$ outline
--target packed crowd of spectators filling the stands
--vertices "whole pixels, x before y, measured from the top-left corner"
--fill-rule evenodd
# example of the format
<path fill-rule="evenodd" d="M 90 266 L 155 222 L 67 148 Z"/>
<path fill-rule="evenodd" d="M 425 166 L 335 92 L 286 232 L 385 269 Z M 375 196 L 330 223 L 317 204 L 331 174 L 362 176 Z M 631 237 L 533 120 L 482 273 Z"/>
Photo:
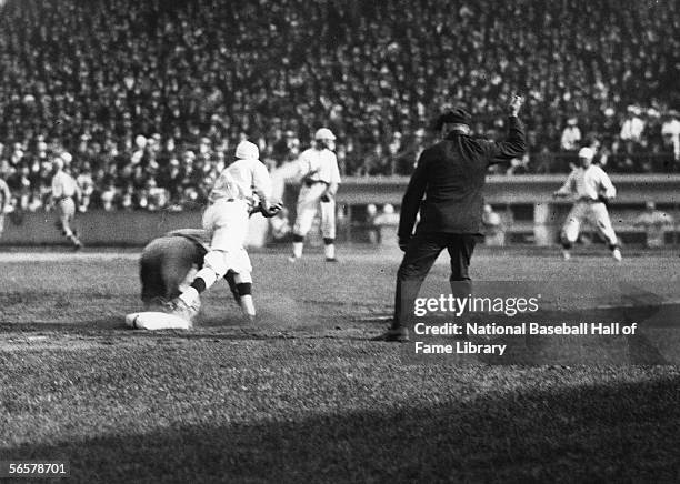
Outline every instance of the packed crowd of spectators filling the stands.
<path fill-rule="evenodd" d="M 678 31 L 672 1 L 7 0 L 0 177 L 37 210 L 67 151 L 90 206 L 182 209 L 239 140 L 273 169 L 321 125 L 344 175 L 409 174 L 442 109 L 498 138 L 512 92 L 530 153 L 502 173 L 596 142 L 610 172 L 679 171 Z"/>

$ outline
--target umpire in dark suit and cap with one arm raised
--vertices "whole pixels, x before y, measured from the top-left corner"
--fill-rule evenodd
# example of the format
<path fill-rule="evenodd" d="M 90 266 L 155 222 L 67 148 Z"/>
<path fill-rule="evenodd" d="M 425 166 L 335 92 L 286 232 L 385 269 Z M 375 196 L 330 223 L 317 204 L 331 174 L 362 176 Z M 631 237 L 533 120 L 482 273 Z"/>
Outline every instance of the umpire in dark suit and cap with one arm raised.
<path fill-rule="evenodd" d="M 404 255 L 397 272 L 392 326 L 374 340 L 408 341 L 413 302 L 442 250 L 451 256 L 452 289 L 458 281 L 470 281 L 468 268 L 481 235 L 487 168 L 521 157 L 527 149 L 518 119 L 522 102 L 519 95 L 510 101 L 508 137 L 501 142 L 471 137 L 470 114 L 463 109 L 447 111 L 437 120 L 442 141 L 422 152 L 401 202 L 398 236 Z"/>

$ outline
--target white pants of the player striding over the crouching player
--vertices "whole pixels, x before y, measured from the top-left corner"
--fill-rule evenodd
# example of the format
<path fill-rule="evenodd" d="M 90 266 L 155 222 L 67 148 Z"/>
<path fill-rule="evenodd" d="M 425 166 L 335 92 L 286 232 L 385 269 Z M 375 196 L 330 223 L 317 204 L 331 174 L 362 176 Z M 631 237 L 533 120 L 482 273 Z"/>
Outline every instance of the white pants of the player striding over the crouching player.
<path fill-rule="evenodd" d="M 252 272 L 250 258 L 243 248 L 248 235 L 248 213 L 244 200 L 229 202 L 226 199 L 218 200 L 203 212 L 203 229 L 210 234 L 210 250 L 203 269 L 214 272 L 216 280 L 229 270 L 239 274 Z M 203 275 L 203 269 L 199 271 L 200 275 Z"/>

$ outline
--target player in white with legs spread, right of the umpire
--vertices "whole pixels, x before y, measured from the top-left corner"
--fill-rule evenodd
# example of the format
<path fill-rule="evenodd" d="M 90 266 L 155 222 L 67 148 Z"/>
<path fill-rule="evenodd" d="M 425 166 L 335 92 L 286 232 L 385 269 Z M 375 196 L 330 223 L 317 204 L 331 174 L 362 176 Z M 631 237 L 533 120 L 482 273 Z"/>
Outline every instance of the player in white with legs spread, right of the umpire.
<path fill-rule="evenodd" d="M 566 260 L 571 258 L 570 250 L 579 236 L 581 224 L 590 221 L 607 240 L 611 255 L 620 261 L 621 250 L 606 204 L 617 195 L 617 189 L 607 173 L 597 164 L 592 164 L 593 157 L 592 148 L 582 148 L 579 151 L 580 167 L 576 168 L 562 188 L 554 192 L 554 196 L 576 196 L 573 208 L 562 226 L 562 254 Z"/>

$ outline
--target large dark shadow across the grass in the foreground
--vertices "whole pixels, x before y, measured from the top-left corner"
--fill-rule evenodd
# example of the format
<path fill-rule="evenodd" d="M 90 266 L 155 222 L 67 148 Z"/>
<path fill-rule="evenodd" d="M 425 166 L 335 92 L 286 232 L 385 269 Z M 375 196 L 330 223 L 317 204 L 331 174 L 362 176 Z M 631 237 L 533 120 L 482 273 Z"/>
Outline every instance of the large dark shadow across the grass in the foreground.
<path fill-rule="evenodd" d="M 548 381 L 551 375 L 548 371 Z M 456 397 L 453 397 L 456 399 Z M 78 482 L 677 482 L 680 377 L 3 448 Z"/>

